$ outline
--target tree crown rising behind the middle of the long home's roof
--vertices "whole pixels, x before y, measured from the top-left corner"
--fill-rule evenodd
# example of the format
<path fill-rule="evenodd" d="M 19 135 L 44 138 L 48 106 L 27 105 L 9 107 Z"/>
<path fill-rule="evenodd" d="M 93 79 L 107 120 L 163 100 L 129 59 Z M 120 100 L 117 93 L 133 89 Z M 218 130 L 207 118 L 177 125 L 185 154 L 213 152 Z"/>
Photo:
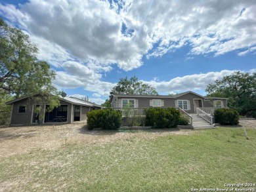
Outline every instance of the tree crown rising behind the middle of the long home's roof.
<path fill-rule="evenodd" d="M 131 79 L 121 78 L 112 92 L 117 94 L 153 94 L 156 95 L 158 92 L 156 88 L 139 81 L 137 77 L 131 77 Z"/>

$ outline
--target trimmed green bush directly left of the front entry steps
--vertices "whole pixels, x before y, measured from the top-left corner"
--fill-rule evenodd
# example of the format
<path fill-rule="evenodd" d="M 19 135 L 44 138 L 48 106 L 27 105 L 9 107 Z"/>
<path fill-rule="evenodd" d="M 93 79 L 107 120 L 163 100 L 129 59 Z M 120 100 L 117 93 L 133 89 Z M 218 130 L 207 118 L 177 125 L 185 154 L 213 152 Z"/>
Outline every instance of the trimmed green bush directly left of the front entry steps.
<path fill-rule="evenodd" d="M 180 112 L 174 107 L 146 109 L 146 126 L 153 128 L 175 128 L 179 124 Z"/>

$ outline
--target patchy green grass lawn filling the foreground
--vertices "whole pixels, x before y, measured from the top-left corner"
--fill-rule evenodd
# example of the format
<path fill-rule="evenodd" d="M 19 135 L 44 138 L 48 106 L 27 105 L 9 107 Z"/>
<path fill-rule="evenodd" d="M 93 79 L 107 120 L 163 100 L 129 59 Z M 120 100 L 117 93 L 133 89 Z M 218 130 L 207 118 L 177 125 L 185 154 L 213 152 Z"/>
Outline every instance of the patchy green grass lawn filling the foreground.
<path fill-rule="evenodd" d="M 0 191 L 190 191 L 255 183 L 256 131 L 247 134 L 249 140 L 242 128 L 215 128 L 38 149 L 0 159 Z"/>

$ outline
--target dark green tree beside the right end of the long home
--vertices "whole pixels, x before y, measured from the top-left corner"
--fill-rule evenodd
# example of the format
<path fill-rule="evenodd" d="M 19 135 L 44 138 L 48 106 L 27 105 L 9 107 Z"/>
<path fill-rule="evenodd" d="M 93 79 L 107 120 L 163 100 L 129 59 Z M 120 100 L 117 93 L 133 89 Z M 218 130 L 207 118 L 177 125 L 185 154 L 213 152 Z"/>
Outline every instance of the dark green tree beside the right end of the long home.
<path fill-rule="evenodd" d="M 241 115 L 256 113 L 256 73 L 236 71 L 207 85 L 205 91 L 208 96 L 229 98 L 228 107 L 237 109 Z"/>

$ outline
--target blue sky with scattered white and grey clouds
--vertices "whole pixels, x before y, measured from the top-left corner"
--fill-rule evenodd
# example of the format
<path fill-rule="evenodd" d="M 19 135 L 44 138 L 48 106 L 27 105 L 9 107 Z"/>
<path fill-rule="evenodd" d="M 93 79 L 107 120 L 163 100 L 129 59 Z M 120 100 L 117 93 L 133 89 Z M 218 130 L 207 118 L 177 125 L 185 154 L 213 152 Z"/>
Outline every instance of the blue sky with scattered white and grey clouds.
<path fill-rule="evenodd" d="M 160 94 L 256 71 L 255 1 L 0 0 L 0 16 L 39 47 L 53 84 L 101 104 L 121 77 Z"/>

